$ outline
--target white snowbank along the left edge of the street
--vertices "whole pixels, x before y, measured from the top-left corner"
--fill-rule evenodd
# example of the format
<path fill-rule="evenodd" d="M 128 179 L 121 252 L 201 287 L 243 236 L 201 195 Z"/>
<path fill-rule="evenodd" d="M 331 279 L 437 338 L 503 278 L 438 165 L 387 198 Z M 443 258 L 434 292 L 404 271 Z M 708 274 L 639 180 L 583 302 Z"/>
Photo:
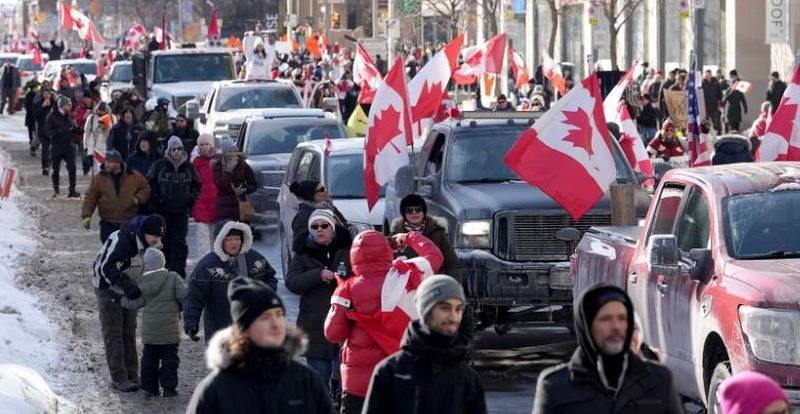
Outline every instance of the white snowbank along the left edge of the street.
<path fill-rule="evenodd" d="M 6 131 L 4 140 L 25 141 L 26 135 Z M 23 130 L 23 133 L 24 130 Z M 9 139 L 11 138 L 11 139 Z M 8 165 L 5 154 L 0 152 L 0 169 Z M 20 290 L 14 283 L 16 263 L 22 254 L 32 254 L 36 249 L 36 224 L 20 210 L 17 200 L 22 193 L 14 185 L 10 197 L 0 200 L 0 364 L 18 364 L 33 369 L 47 382 L 53 382 L 62 346 L 56 337 L 56 326 L 37 306 L 37 299 Z M 12 406 L 9 394 L 18 395 L 19 389 L 10 377 L 31 378 L 29 372 L 13 366 L 0 365 L 0 413 L 21 413 L 20 407 Z M 11 382 L 9 382 L 11 381 Z M 41 384 L 28 382 L 29 386 L 41 388 Z M 45 385 L 46 386 L 46 385 Z M 41 395 L 52 395 L 52 391 L 39 390 Z M 36 395 L 34 392 L 29 395 Z M 35 398 L 35 397 L 30 397 Z M 69 406 L 68 401 L 61 404 Z M 42 412 L 42 411 L 37 411 Z"/>

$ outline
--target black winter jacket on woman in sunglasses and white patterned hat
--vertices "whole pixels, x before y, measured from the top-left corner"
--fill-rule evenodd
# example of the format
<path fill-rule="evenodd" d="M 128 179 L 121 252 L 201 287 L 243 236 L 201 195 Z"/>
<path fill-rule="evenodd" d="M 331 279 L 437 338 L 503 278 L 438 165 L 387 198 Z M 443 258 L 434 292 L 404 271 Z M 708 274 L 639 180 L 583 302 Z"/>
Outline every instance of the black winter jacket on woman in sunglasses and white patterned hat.
<path fill-rule="evenodd" d="M 308 350 L 306 357 L 333 359 L 337 352 L 335 344 L 325 339 L 325 317 L 331 305 L 331 295 L 336 289 L 336 281 L 325 283 L 320 278 L 323 268 L 336 272 L 339 263 L 350 270 L 350 245 L 353 239 L 350 232 L 336 226 L 336 233 L 329 246 L 320 246 L 308 240 L 308 230 L 295 240 L 294 252 L 289 270 L 284 278 L 286 288 L 300 295 L 300 312 L 297 315 L 297 326 L 308 334 Z"/>

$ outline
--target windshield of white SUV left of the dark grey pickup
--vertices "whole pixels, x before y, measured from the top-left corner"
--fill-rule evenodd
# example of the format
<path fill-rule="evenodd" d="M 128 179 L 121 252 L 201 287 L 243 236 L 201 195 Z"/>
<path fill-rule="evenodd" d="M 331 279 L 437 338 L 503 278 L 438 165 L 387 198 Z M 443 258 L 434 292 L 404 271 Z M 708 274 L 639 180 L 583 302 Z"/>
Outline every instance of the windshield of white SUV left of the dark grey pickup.
<path fill-rule="evenodd" d="M 365 198 L 364 154 L 332 155 L 325 164 L 325 188 L 333 199 Z M 381 188 L 380 196 L 386 194 Z"/>

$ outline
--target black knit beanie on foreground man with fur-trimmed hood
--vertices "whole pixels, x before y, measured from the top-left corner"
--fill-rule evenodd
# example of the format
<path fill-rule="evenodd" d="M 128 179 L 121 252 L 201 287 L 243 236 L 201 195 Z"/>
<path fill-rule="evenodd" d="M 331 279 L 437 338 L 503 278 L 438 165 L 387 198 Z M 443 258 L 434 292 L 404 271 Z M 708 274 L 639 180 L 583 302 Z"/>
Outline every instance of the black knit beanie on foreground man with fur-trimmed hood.
<path fill-rule="evenodd" d="M 247 329 L 265 310 L 281 308 L 283 301 L 266 283 L 249 277 L 237 277 L 228 285 L 231 302 L 231 319 L 242 329 Z"/>

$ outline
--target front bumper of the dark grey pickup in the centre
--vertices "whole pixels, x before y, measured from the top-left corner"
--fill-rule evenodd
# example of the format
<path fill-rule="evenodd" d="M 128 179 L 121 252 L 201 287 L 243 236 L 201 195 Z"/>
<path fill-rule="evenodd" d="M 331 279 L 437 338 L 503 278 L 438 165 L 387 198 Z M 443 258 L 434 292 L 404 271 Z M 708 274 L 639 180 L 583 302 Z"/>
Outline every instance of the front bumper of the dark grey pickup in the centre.
<path fill-rule="evenodd" d="M 569 262 L 507 262 L 457 249 L 467 296 L 484 305 L 572 305 Z"/>

